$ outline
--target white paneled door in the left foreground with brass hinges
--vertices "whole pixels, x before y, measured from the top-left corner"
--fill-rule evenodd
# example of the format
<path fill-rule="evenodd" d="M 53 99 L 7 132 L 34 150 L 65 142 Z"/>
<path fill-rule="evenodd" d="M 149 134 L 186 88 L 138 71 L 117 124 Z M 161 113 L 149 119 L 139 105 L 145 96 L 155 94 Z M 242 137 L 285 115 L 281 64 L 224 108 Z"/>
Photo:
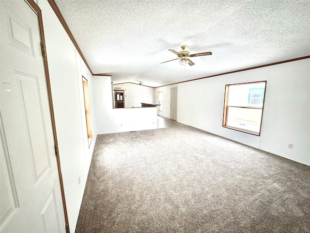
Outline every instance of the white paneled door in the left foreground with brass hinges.
<path fill-rule="evenodd" d="M 37 14 L 0 7 L 0 232 L 65 232 Z"/>

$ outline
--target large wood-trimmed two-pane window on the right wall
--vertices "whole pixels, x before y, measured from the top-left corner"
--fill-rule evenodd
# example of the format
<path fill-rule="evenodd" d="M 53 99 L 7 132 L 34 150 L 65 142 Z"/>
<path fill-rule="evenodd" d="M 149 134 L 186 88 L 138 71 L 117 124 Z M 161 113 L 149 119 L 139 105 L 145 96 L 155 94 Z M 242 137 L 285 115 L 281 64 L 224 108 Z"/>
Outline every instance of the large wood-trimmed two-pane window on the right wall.
<path fill-rule="evenodd" d="M 225 86 L 223 127 L 260 135 L 266 81 Z"/>

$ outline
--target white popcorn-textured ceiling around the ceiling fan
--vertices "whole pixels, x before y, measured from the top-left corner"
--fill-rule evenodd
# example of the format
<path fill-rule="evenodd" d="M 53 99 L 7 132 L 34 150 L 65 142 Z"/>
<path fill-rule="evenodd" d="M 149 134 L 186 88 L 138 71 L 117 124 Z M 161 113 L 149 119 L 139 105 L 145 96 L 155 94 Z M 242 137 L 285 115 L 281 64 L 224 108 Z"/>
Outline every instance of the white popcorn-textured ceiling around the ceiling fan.
<path fill-rule="evenodd" d="M 93 74 L 161 86 L 310 55 L 310 0 L 56 0 Z M 194 66 L 160 64 L 187 45 Z M 126 76 L 125 76 L 126 75 Z"/>

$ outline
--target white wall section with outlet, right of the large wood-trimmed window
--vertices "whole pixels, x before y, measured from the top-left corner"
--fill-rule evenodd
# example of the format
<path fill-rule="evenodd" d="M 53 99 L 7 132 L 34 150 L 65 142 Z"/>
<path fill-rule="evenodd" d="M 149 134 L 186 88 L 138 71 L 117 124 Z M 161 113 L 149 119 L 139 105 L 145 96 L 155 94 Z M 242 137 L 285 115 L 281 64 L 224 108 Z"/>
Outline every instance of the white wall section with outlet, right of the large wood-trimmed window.
<path fill-rule="evenodd" d="M 261 149 L 310 165 L 310 59 L 270 67 L 266 90 Z"/>

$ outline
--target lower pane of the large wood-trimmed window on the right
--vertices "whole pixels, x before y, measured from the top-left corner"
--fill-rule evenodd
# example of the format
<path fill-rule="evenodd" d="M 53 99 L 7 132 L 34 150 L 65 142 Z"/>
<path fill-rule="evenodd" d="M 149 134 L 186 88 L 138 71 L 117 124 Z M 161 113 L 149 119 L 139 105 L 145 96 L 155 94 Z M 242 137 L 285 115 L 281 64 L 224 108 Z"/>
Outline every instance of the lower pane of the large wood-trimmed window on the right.
<path fill-rule="evenodd" d="M 226 126 L 259 133 L 262 112 L 262 109 L 228 107 Z"/>

